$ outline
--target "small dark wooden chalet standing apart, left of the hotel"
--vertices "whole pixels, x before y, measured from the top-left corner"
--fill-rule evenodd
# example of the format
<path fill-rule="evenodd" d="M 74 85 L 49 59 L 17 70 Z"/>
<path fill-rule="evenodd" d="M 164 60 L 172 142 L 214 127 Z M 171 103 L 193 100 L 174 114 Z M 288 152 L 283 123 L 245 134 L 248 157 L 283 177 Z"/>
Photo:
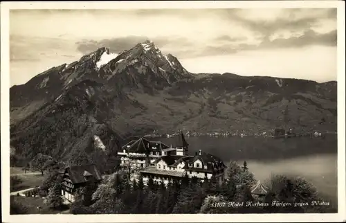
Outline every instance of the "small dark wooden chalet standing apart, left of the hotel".
<path fill-rule="evenodd" d="M 78 188 L 102 180 L 100 171 L 95 165 L 69 166 L 62 173 L 62 196 L 73 202 L 74 193 Z"/>

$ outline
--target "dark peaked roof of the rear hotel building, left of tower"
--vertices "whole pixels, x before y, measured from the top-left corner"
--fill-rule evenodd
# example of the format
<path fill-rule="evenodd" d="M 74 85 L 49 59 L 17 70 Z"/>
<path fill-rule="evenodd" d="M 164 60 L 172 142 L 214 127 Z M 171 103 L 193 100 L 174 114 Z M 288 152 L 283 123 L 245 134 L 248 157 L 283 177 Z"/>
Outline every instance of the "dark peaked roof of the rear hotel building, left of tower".
<path fill-rule="evenodd" d="M 149 141 L 144 137 L 136 141 L 131 141 L 122 147 L 123 150 L 127 150 L 127 152 L 141 153 L 147 154 L 149 152 L 161 152 L 161 150 L 165 150 L 169 148 L 168 145 L 160 141 Z"/>

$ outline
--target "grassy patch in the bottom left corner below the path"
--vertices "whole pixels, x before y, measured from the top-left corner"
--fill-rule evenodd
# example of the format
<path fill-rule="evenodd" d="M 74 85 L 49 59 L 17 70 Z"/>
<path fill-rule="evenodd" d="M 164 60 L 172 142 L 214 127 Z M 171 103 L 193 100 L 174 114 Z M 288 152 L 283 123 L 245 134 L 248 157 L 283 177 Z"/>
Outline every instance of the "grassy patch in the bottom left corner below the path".
<path fill-rule="evenodd" d="M 26 214 L 58 214 L 67 213 L 69 210 L 69 206 L 63 206 L 60 210 L 53 210 L 44 204 L 44 199 L 42 199 L 42 197 L 12 197 L 13 203 L 19 203 L 27 208 Z M 37 206 L 41 208 L 37 208 Z"/>

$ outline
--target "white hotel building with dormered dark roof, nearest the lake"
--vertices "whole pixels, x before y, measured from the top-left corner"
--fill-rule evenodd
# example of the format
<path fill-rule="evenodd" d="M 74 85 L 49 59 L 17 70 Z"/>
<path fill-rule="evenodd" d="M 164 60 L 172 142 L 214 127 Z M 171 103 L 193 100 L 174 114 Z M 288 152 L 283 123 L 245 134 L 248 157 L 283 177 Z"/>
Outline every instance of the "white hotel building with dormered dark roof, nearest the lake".
<path fill-rule="evenodd" d="M 221 182 L 224 181 L 225 169 L 226 166 L 221 159 L 199 150 L 194 156 L 176 152 L 175 155 L 159 157 L 151 166 L 140 170 L 140 174 L 145 182 L 152 178 L 165 184 L 174 179 L 180 180 L 185 175 L 189 178 L 197 177 L 201 181 L 215 177 Z"/>

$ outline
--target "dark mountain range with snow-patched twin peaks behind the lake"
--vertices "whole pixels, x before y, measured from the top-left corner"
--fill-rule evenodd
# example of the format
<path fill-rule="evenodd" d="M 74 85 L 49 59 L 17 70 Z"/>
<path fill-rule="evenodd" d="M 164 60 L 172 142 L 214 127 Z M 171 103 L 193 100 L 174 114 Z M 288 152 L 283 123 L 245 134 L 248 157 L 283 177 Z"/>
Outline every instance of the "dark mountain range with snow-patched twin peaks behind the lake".
<path fill-rule="evenodd" d="M 119 55 L 100 48 L 12 87 L 10 118 L 16 151 L 61 159 L 100 141 L 116 152 L 153 130 L 336 131 L 336 82 L 193 74 L 147 41 Z"/>

